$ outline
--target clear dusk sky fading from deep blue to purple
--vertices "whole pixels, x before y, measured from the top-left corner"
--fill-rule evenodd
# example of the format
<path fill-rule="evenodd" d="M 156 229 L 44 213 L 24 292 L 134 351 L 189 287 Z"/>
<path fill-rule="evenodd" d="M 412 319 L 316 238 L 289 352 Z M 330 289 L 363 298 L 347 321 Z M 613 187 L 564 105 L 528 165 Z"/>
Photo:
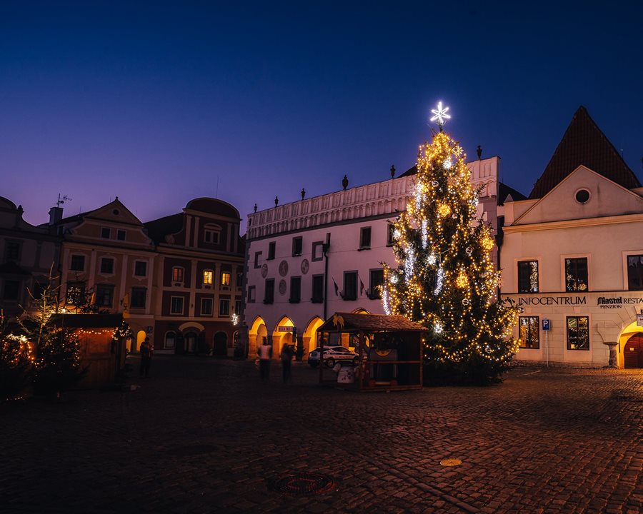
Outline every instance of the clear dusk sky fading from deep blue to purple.
<path fill-rule="evenodd" d="M 438 100 L 524 194 L 580 105 L 640 179 L 642 25 L 636 0 L 0 1 L 0 196 L 245 221 L 406 171 Z"/>

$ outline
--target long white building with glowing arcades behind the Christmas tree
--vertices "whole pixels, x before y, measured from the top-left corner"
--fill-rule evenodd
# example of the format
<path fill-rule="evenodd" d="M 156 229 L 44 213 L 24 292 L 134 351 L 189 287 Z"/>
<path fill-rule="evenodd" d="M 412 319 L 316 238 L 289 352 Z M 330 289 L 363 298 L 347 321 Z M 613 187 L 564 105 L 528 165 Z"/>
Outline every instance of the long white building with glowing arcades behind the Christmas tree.
<path fill-rule="evenodd" d="M 468 164 L 482 186 L 478 216 L 497 226 L 499 157 Z M 398 178 L 302 198 L 248 215 L 244 323 L 249 356 L 266 340 L 273 358 L 284 344 L 316 348 L 317 329 L 335 312 L 382 314 L 382 262 L 394 263 L 390 221 L 412 196 L 411 168 Z M 497 254 L 494 250 L 494 257 Z"/>

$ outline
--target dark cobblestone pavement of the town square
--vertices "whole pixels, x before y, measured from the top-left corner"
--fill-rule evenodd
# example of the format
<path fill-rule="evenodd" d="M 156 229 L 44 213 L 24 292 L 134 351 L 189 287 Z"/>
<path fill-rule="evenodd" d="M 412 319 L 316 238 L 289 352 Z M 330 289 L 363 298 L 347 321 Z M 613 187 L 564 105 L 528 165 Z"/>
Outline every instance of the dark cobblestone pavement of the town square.
<path fill-rule="evenodd" d="M 362 394 L 319 387 L 305 364 L 294 385 L 279 371 L 264 385 L 250 362 L 156 356 L 136 390 L 0 405 L 0 512 L 643 510 L 643 371 Z M 272 488 L 302 472 L 334 488 Z"/>

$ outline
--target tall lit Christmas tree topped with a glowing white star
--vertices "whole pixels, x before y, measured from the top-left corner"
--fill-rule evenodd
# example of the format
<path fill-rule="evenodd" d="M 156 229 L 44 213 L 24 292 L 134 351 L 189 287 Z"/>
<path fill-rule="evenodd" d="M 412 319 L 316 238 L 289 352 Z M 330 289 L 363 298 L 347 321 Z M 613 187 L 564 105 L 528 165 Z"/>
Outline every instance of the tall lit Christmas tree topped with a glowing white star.
<path fill-rule="evenodd" d="M 517 351 L 518 311 L 497 301 L 492 228 L 477 217 L 479 191 L 462 148 L 442 131 L 448 109 L 433 111 L 439 131 L 420 146 L 413 196 L 393 223 L 399 266 L 384 263 L 382 303 L 429 328 L 428 381 L 489 383 Z"/>

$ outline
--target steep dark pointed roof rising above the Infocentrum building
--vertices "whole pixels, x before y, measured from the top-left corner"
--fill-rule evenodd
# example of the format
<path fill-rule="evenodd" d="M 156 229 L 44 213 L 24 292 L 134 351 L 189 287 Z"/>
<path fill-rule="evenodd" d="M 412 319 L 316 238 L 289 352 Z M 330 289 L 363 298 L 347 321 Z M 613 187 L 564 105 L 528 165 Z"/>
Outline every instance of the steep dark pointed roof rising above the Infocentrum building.
<path fill-rule="evenodd" d="M 636 175 L 580 106 L 529 198 L 542 198 L 579 166 L 587 166 L 627 189 L 641 187 Z"/>

